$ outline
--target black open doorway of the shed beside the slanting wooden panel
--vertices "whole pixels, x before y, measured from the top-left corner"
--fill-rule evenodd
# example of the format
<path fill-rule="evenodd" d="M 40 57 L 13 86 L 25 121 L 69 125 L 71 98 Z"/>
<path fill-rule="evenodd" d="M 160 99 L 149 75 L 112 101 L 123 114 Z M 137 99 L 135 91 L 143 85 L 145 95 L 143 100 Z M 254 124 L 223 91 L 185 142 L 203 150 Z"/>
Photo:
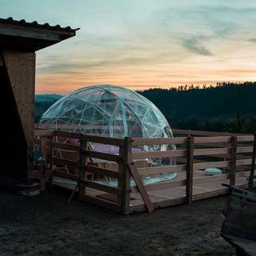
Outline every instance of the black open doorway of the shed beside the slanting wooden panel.
<path fill-rule="evenodd" d="M 5 66 L 0 66 L 0 88 L 1 146 L 3 149 L 0 154 L 0 174 L 15 179 L 26 179 L 26 138 Z"/>

